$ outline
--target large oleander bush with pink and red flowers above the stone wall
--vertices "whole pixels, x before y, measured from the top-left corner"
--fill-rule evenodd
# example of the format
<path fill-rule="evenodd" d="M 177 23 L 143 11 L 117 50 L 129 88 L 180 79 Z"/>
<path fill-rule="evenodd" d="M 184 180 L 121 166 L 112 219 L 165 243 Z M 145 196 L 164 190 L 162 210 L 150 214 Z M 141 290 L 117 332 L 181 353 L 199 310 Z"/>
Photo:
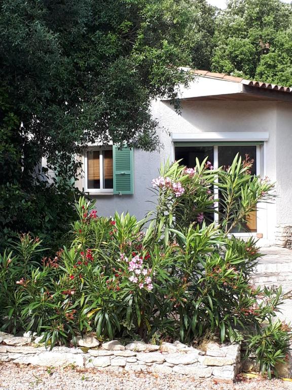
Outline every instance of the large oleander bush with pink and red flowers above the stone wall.
<path fill-rule="evenodd" d="M 34 262 L 41 241 L 21 236 L 0 256 L 2 329 L 31 330 L 52 345 L 92 331 L 101 340 L 187 343 L 206 333 L 222 342 L 261 335 L 285 297 L 251 285 L 257 242 L 232 235 L 259 201 L 273 199 L 273 184 L 251 176 L 251 164 L 238 156 L 227 170 L 166 164 L 152 182 L 155 210 L 141 221 L 98 217 L 80 198 L 71 245 L 42 265 Z"/>

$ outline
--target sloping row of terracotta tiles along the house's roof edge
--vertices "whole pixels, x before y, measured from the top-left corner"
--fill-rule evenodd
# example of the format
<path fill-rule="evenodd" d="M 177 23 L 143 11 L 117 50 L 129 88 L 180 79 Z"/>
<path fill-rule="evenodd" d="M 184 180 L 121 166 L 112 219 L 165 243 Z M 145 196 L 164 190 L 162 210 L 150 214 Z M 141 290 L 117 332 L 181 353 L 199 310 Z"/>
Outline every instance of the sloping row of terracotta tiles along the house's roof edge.
<path fill-rule="evenodd" d="M 285 87 L 277 84 L 264 83 L 262 81 L 245 80 L 242 77 L 229 76 L 226 73 L 213 73 L 213 72 L 202 71 L 202 70 L 192 70 L 192 72 L 194 72 L 197 75 L 213 77 L 215 79 L 224 79 L 228 81 L 233 81 L 236 83 L 249 85 L 255 88 L 272 89 L 274 91 L 280 91 L 280 92 L 290 92 L 290 93 L 292 92 L 292 87 Z"/>

